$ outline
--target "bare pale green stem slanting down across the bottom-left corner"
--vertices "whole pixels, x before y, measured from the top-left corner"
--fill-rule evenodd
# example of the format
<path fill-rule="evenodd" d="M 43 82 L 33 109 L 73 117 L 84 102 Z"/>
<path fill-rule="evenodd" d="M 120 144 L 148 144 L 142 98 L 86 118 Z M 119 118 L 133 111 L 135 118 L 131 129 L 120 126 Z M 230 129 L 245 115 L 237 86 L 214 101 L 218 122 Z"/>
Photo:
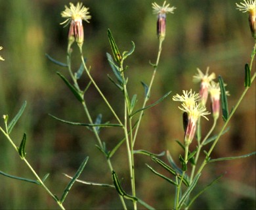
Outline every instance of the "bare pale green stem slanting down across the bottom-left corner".
<path fill-rule="evenodd" d="M 2 129 L 2 127 L 0 127 L 1 132 L 5 135 L 5 137 L 7 137 L 7 139 L 9 140 L 9 142 L 12 144 L 13 148 L 16 150 L 16 152 L 18 152 L 18 148 L 17 146 L 14 144 L 14 142 L 12 141 L 11 137 L 5 133 L 5 131 Z M 37 179 L 37 181 L 41 184 L 41 186 L 43 186 L 43 188 L 45 188 L 45 190 L 47 191 L 47 193 L 53 198 L 54 201 L 56 201 L 56 203 L 59 205 L 60 209 L 65 209 L 64 206 L 62 205 L 62 203 L 60 203 L 60 201 L 58 200 L 58 198 L 56 198 L 56 196 L 53 195 L 53 193 L 47 188 L 47 186 L 45 186 L 45 184 L 43 183 L 43 181 L 40 179 L 40 177 L 37 175 L 37 173 L 35 172 L 35 170 L 33 169 L 33 167 L 30 165 L 30 163 L 28 162 L 28 160 L 26 158 L 22 158 L 22 160 L 26 163 L 26 165 L 28 166 L 28 168 L 30 169 L 30 171 L 32 171 L 33 175 L 35 176 L 35 178 Z"/>

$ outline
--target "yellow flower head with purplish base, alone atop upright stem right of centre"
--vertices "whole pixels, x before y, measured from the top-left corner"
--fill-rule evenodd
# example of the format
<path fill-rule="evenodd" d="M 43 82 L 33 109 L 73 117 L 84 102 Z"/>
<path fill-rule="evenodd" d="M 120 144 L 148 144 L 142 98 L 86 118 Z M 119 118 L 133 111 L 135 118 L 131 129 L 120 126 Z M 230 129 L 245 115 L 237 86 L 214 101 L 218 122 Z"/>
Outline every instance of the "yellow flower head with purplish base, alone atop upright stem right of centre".
<path fill-rule="evenodd" d="M 169 7 L 170 4 L 165 5 L 166 1 L 163 2 L 163 6 L 159 6 L 157 3 L 152 3 L 153 14 L 158 14 L 157 22 L 157 35 L 158 39 L 163 41 L 165 39 L 165 28 L 166 28 L 166 13 L 174 13 L 175 7 Z"/>

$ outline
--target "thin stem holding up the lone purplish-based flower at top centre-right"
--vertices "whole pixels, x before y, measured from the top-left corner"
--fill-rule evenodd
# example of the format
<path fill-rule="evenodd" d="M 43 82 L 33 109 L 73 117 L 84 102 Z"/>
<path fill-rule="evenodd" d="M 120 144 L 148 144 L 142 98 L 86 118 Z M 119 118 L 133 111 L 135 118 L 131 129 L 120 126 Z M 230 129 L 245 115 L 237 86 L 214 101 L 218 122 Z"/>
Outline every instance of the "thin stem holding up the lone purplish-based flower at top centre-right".
<path fill-rule="evenodd" d="M 142 108 L 145 108 L 146 102 L 148 101 L 148 98 L 150 96 L 150 90 L 152 88 L 152 85 L 153 85 L 153 82 L 154 82 L 154 79 L 155 79 L 155 76 L 156 76 L 156 70 L 158 69 L 158 63 L 159 63 L 160 56 L 161 56 L 161 49 L 162 49 L 161 45 L 162 45 L 162 43 L 163 43 L 163 40 L 160 40 L 159 41 L 159 47 L 158 47 L 158 57 L 156 58 L 156 64 L 154 65 L 154 72 L 152 74 L 152 77 L 151 77 L 151 80 L 150 80 L 150 85 L 148 86 L 148 92 L 146 93 Z M 144 114 L 144 111 L 140 112 L 139 120 L 138 120 L 136 129 L 135 129 L 135 135 L 133 137 L 133 146 L 135 144 L 137 133 L 138 133 L 138 130 L 139 130 L 139 127 L 140 127 L 140 121 L 142 119 L 143 114 Z"/>

